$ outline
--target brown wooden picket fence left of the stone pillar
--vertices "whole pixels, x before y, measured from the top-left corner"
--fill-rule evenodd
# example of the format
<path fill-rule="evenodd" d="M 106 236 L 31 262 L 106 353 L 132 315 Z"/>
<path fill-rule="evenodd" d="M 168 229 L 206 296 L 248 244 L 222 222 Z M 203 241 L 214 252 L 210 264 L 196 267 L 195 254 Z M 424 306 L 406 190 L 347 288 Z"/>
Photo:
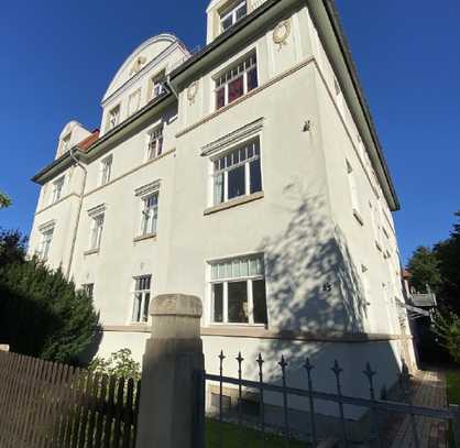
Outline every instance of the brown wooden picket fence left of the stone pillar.
<path fill-rule="evenodd" d="M 133 448 L 140 382 L 0 352 L 1 448 Z"/>

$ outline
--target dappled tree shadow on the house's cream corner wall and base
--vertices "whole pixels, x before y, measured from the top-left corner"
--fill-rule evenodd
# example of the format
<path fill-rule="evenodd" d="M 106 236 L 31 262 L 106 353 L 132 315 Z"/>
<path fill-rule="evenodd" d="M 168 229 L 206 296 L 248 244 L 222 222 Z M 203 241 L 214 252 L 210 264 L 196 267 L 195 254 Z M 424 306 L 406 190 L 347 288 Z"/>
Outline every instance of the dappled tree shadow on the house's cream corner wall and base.
<path fill-rule="evenodd" d="M 282 384 L 282 354 L 287 361 L 287 384 L 307 389 L 306 359 L 316 367 L 314 387 L 337 392 L 331 371 L 337 359 L 342 392 L 369 397 L 369 382 L 363 374 L 369 361 L 375 370 L 375 390 L 390 387 L 399 373 L 398 357 L 390 342 L 350 343 L 352 337 L 365 338 L 368 303 L 357 265 L 341 229 L 329 216 L 324 198 L 302 189 L 297 184 L 284 190 L 280 217 L 288 216 L 278 234 L 262 241 L 267 283 L 270 329 L 282 338 L 260 340 L 258 351 L 264 359 L 264 378 Z M 299 334 L 303 338 L 298 338 Z M 297 336 L 296 340 L 293 337 Z M 347 340 L 340 341 L 346 337 Z M 330 338 L 337 338 L 331 342 Z M 244 354 L 243 354 L 244 357 Z M 258 371 L 255 360 L 248 359 L 245 374 Z M 281 404 L 281 396 L 267 394 L 267 402 Z M 289 397 L 289 406 L 307 409 L 305 398 Z M 337 415 L 337 404 L 317 403 L 317 411 Z M 346 415 L 358 418 L 362 412 L 347 406 Z M 305 424 L 305 417 L 300 418 Z"/>

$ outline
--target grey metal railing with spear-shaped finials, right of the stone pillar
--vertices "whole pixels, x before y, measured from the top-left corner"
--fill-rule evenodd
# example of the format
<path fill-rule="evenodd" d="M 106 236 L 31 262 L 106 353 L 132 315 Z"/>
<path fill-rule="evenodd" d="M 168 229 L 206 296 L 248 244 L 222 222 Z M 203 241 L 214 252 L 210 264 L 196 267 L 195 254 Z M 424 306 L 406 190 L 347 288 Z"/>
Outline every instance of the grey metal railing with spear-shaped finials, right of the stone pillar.
<path fill-rule="evenodd" d="M 248 427 L 252 427 L 252 430 L 256 430 L 258 438 L 259 438 L 259 446 L 265 447 L 266 446 L 266 438 L 271 437 L 274 433 L 274 426 L 269 425 L 266 422 L 266 393 L 275 393 L 280 395 L 280 403 L 278 406 L 281 412 L 277 418 L 277 434 L 280 435 L 278 438 L 282 440 L 283 446 L 289 447 L 297 438 L 294 435 L 294 431 L 291 427 L 291 414 L 293 412 L 293 407 L 289 407 L 289 400 L 293 396 L 305 398 L 306 400 L 306 409 L 303 415 L 304 418 L 308 419 L 305 422 L 305 427 L 309 426 L 308 434 L 304 433 L 303 440 L 308 441 L 314 447 L 318 447 L 320 440 L 320 436 L 318 433 L 318 418 L 319 413 L 317 412 L 317 402 L 329 402 L 337 405 L 337 414 L 335 418 L 335 427 L 340 428 L 338 436 L 338 442 L 341 447 L 349 447 L 350 446 L 350 438 L 349 431 L 347 428 L 348 419 L 346 418 L 344 406 L 358 406 L 361 408 L 366 408 L 369 411 L 369 422 L 370 422 L 370 434 L 366 441 L 371 442 L 372 446 L 377 448 L 383 448 L 383 422 L 382 416 L 383 413 L 392 413 L 393 415 L 399 414 L 403 416 L 407 416 L 409 418 L 409 426 L 412 431 L 412 439 L 413 446 L 415 448 L 419 448 L 420 445 L 420 436 L 417 430 L 417 423 L 416 417 L 429 417 L 435 418 L 443 422 L 451 422 L 453 423 L 453 433 L 456 438 L 456 446 L 460 448 L 460 433 L 459 433 L 459 416 L 460 411 L 457 406 L 449 406 L 448 408 L 443 407 L 428 407 L 428 406 L 418 406 L 413 403 L 413 391 L 410 386 L 410 375 L 408 372 L 407 367 L 403 363 L 402 373 L 399 376 L 399 384 L 402 386 L 402 392 L 404 395 L 403 402 L 394 402 L 394 401 L 386 401 L 386 400 L 377 400 L 375 395 L 375 386 L 374 386 L 374 379 L 376 372 L 372 369 L 371 364 L 368 362 L 365 364 L 364 370 L 361 372 L 363 374 L 363 381 L 366 381 L 366 389 L 369 389 L 369 397 L 357 397 L 357 396 L 349 396 L 342 393 L 342 374 L 343 369 L 340 367 L 339 362 L 336 360 L 333 365 L 331 367 L 332 372 L 332 380 L 335 382 L 336 392 L 321 392 L 314 389 L 314 379 L 313 379 L 313 370 L 315 367 L 307 358 L 303 365 L 305 370 L 305 389 L 299 387 L 292 387 L 288 386 L 288 375 L 286 373 L 288 363 L 284 357 L 281 358 L 278 362 L 280 367 L 280 375 L 278 375 L 278 384 L 267 383 L 264 380 L 264 359 L 262 354 L 259 354 L 258 359 L 255 360 L 256 363 L 256 371 L 259 381 L 250 381 L 242 378 L 242 368 L 244 359 L 241 356 L 241 352 L 238 353 L 236 357 L 236 362 L 238 363 L 238 378 L 226 376 L 223 374 L 223 365 L 224 360 L 227 357 L 224 356 L 223 351 L 219 354 L 219 374 L 209 374 L 202 372 L 200 378 L 202 379 L 202 389 L 206 387 L 206 382 L 218 384 L 218 408 L 217 414 L 215 415 L 215 419 L 219 423 L 219 436 L 218 436 L 218 447 L 224 448 L 224 424 L 231 423 L 237 426 L 238 431 L 241 433 L 241 446 L 243 446 L 243 434 Z M 255 367 L 255 365 L 254 365 Z M 364 379 L 365 378 L 365 379 Z M 355 380 L 358 381 L 358 379 Z M 237 406 L 236 413 L 233 412 L 231 417 L 228 417 L 229 414 L 224 409 L 223 400 L 223 386 L 224 385 L 233 386 L 236 392 Z M 256 416 L 256 420 L 253 424 L 248 425 L 248 422 L 243 422 L 243 401 L 244 401 L 244 393 L 243 390 L 253 390 L 259 392 L 259 412 Z M 202 403 L 202 411 L 205 405 Z M 231 413 L 230 413 L 231 414 Z M 230 415 L 229 414 L 229 415 Z M 307 437 L 305 437 L 307 436 Z M 307 446 L 311 446 L 307 445 Z M 252 446 L 252 445 L 251 445 Z M 281 446 L 281 445 L 280 445 Z M 297 445 L 295 445 L 297 446 Z M 213 448 L 213 447 L 206 447 L 206 448 Z"/>

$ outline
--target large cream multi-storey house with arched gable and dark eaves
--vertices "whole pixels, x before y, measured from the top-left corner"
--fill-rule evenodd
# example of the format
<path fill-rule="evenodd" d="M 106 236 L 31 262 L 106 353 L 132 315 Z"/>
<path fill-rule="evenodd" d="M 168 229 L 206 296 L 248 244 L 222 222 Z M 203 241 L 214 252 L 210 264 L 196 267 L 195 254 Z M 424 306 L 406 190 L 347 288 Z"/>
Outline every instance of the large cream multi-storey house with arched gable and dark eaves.
<path fill-rule="evenodd" d="M 308 7 L 307 7 L 308 4 Z M 149 304 L 204 303 L 206 367 L 368 396 L 414 362 L 392 212 L 399 204 L 333 3 L 216 1 L 208 45 L 144 42 L 102 99 L 101 130 L 59 136 L 30 240 L 100 309 L 100 354 L 141 359 Z M 89 142 L 89 143 L 88 143 Z M 325 373 L 322 373 L 325 372 Z M 303 408 L 304 404 L 296 404 Z M 329 412 L 324 409 L 325 413 Z M 357 414 L 358 415 L 358 414 Z"/>

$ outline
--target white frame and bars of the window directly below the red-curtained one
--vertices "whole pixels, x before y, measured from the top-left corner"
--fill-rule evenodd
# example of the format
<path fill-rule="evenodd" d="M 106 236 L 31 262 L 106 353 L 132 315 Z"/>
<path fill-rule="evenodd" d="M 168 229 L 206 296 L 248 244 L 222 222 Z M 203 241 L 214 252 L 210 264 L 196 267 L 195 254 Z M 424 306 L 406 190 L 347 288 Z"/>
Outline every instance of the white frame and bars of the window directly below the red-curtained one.
<path fill-rule="evenodd" d="M 217 164 L 220 164 L 219 161 L 226 161 L 227 156 L 234 154 L 237 151 L 245 151 L 248 157 L 243 162 L 232 163 L 230 166 L 217 168 Z M 252 151 L 252 156 L 249 156 L 250 151 Z M 251 162 L 260 161 L 261 170 L 261 189 L 259 192 L 251 193 Z M 216 156 L 210 159 L 211 162 L 211 206 L 217 206 L 220 204 L 226 204 L 229 200 L 236 200 L 238 198 L 250 196 L 251 194 L 263 192 L 263 176 L 262 176 L 262 157 L 261 157 L 261 138 L 256 135 L 243 143 L 234 145 L 226 151 L 220 152 Z M 244 165 L 244 194 L 229 199 L 229 172 Z M 217 200 L 216 183 L 217 177 L 222 175 L 223 183 L 223 199 L 221 201 Z"/>

